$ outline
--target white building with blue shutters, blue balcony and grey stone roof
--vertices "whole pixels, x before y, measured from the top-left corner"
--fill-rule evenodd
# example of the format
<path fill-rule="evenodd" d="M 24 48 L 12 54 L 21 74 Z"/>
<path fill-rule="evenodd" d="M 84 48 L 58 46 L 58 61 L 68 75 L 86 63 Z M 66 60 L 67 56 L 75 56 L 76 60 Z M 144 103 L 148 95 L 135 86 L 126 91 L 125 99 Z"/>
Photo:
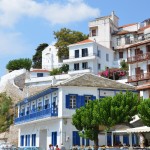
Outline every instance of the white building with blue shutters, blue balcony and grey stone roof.
<path fill-rule="evenodd" d="M 72 145 L 93 145 L 93 141 L 80 138 L 72 125 L 75 109 L 84 106 L 89 100 L 114 96 L 126 90 L 135 91 L 135 87 L 93 74 L 80 74 L 23 99 L 16 106 L 18 146 L 46 150 L 49 144 L 58 144 L 60 147 L 63 143 L 67 149 Z M 110 136 L 107 138 L 109 142 Z M 99 135 L 99 142 L 100 145 L 107 144 L 104 135 Z"/>

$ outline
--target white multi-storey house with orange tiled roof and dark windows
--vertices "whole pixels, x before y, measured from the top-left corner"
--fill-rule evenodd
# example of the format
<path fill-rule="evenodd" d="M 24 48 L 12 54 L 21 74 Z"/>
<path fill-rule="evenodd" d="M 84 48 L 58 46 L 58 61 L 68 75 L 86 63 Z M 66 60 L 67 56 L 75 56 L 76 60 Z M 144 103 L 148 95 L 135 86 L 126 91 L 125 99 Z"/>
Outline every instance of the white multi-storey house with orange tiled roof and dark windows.
<path fill-rule="evenodd" d="M 69 64 L 68 74 L 94 73 L 114 67 L 113 51 L 90 39 L 69 45 L 69 59 L 63 60 Z M 117 66 L 118 67 L 118 66 Z"/>

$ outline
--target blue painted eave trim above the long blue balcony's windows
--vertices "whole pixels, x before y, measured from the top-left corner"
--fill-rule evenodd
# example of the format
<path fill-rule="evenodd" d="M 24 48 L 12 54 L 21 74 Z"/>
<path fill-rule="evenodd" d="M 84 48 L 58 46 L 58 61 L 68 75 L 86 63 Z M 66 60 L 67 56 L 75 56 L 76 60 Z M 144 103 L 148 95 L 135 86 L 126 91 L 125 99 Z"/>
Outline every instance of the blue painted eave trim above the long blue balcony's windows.
<path fill-rule="evenodd" d="M 57 90 L 58 90 L 58 88 L 49 88 L 49 89 L 47 89 L 45 91 L 42 91 L 42 92 L 40 92 L 40 93 L 38 93 L 36 95 L 31 96 L 31 97 L 24 98 L 21 102 L 18 103 L 18 105 L 19 104 L 23 105 L 23 104 L 26 104 L 26 103 L 31 102 L 33 100 L 37 100 L 38 98 L 43 97 L 43 96 L 45 96 L 45 95 L 47 95 L 49 93 L 52 93 L 54 91 L 57 91 Z"/>

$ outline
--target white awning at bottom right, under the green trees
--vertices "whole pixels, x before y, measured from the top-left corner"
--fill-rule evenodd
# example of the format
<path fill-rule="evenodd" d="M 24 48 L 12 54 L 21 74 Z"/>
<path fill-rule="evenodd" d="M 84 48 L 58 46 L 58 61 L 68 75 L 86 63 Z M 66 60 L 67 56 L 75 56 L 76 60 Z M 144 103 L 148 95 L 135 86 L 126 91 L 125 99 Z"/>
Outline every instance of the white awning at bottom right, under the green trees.
<path fill-rule="evenodd" d="M 150 127 L 142 126 L 137 128 L 130 128 L 126 130 L 127 133 L 140 133 L 140 132 L 150 132 Z"/>

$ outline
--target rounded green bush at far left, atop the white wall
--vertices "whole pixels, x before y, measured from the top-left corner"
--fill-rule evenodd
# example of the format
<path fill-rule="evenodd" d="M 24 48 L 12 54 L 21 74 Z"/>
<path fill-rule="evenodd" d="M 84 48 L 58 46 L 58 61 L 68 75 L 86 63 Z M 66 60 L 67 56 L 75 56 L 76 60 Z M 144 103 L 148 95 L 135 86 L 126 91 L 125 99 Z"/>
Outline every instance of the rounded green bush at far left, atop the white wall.
<path fill-rule="evenodd" d="M 32 61 L 29 58 L 20 58 L 20 59 L 14 59 L 10 60 L 8 64 L 6 65 L 6 68 L 9 71 L 18 70 L 18 69 L 27 69 L 30 70 L 32 65 Z"/>

